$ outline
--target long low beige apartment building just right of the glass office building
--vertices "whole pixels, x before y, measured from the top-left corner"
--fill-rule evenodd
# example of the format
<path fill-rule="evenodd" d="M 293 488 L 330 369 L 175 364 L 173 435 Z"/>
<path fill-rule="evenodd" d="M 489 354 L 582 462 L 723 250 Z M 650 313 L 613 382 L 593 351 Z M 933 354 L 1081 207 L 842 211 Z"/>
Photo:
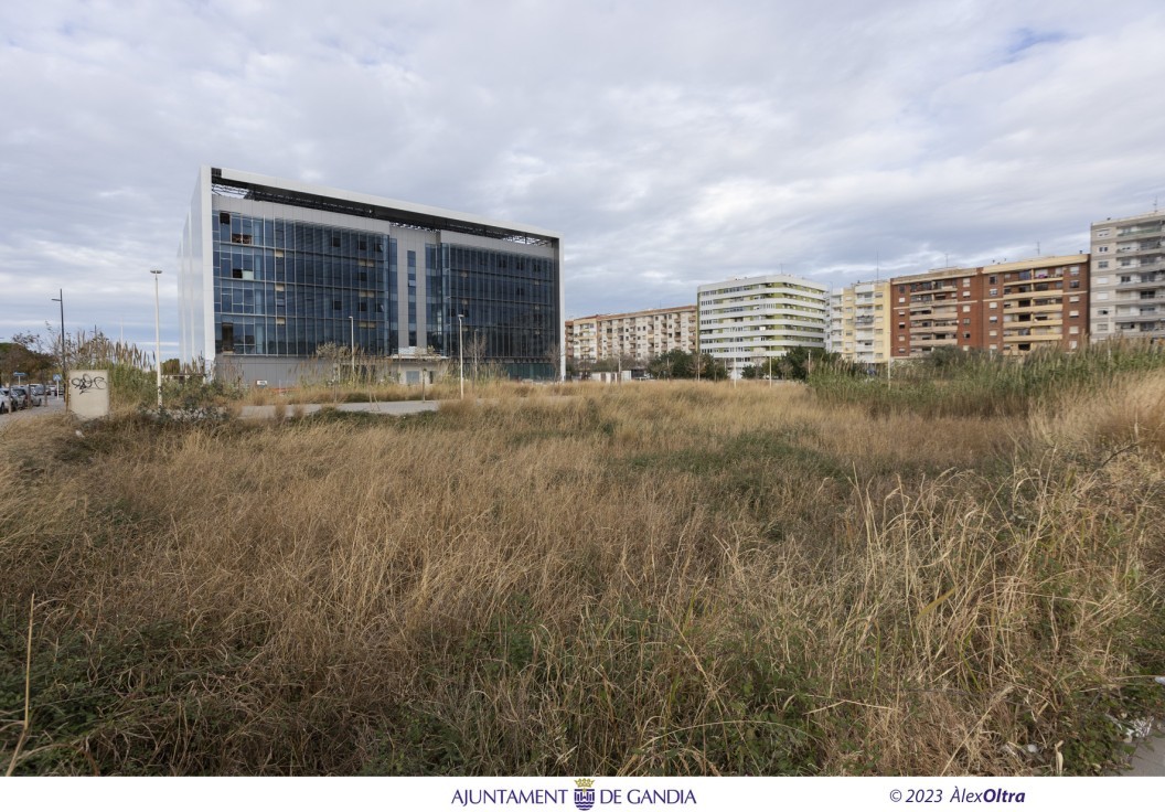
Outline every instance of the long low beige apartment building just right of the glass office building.
<path fill-rule="evenodd" d="M 603 359 L 647 362 L 671 349 L 696 351 L 696 305 L 586 316 L 566 322 L 566 358 L 585 366 Z"/>

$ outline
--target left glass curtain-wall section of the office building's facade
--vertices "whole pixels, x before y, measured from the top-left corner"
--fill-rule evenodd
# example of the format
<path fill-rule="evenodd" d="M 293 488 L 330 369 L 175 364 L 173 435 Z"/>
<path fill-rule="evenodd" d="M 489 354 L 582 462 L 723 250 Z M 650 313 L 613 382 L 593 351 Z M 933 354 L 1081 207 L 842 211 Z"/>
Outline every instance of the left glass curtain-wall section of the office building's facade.
<path fill-rule="evenodd" d="M 212 213 L 214 349 L 312 355 L 396 351 L 394 241 L 384 234 Z"/>

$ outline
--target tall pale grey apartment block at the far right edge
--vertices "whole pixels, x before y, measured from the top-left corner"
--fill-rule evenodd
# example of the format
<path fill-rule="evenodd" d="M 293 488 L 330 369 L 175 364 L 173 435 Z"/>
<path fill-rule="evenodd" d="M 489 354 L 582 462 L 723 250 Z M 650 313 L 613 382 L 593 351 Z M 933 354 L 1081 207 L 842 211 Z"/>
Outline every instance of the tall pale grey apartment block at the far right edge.
<path fill-rule="evenodd" d="M 1093 341 L 1165 338 L 1165 214 L 1092 224 Z"/>

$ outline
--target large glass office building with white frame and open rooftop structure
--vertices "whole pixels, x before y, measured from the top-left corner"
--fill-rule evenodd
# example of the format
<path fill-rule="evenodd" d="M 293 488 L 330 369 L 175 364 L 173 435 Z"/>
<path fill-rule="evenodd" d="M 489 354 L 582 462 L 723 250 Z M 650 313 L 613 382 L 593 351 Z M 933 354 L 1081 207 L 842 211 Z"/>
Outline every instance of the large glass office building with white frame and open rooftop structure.
<path fill-rule="evenodd" d="M 560 250 L 542 228 L 204 167 L 179 248 L 182 359 L 276 386 L 324 345 L 456 358 L 460 315 L 485 361 L 552 377 Z"/>

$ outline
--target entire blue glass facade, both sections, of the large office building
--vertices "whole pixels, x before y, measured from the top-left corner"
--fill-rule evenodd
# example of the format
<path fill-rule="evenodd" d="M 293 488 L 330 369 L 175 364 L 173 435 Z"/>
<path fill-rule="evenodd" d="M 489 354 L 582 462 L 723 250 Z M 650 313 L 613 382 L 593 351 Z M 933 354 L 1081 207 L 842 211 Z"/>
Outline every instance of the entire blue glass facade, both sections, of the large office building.
<path fill-rule="evenodd" d="M 405 346 L 454 356 L 460 315 L 466 343 L 483 339 L 486 360 L 523 377 L 553 374 L 552 259 L 426 242 L 423 254 L 403 252 L 402 308 L 395 238 L 221 209 L 211 223 L 216 354 L 310 356 L 323 344 L 347 346 L 354 331 L 365 353 L 391 355 L 400 319 Z"/>

